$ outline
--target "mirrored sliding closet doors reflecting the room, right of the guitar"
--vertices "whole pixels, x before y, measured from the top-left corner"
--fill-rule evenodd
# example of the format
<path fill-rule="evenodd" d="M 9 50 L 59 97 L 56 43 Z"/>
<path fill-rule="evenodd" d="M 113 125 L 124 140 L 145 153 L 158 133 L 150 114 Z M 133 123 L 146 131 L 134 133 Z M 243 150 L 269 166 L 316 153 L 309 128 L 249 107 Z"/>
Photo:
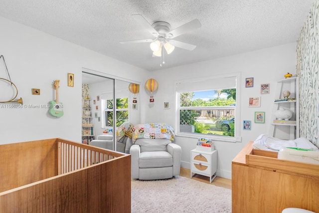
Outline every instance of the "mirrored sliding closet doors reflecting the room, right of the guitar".
<path fill-rule="evenodd" d="M 129 90 L 130 83 L 92 70 L 82 71 L 82 143 L 129 153 L 130 139 L 116 140 L 124 122 L 140 123 L 140 110 Z M 129 143 L 129 144 L 126 144 Z"/>

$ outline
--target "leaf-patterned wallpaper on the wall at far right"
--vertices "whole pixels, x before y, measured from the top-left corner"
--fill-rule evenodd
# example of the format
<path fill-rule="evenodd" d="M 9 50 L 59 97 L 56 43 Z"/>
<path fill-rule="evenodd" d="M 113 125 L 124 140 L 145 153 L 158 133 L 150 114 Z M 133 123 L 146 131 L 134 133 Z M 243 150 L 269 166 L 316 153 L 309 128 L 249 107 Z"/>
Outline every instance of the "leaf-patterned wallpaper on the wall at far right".
<path fill-rule="evenodd" d="M 319 146 L 319 0 L 315 0 L 297 40 L 300 137 Z"/>

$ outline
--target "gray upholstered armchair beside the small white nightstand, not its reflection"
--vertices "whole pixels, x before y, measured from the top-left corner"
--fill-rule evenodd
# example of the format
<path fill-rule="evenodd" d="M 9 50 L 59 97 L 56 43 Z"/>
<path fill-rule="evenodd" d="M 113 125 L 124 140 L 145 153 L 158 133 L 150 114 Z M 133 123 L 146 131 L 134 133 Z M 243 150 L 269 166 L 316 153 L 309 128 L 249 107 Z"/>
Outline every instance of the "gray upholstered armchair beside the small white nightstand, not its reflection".
<path fill-rule="evenodd" d="M 167 139 L 137 139 L 131 146 L 132 178 L 167 179 L 178 176 L 181 147 Z"/>

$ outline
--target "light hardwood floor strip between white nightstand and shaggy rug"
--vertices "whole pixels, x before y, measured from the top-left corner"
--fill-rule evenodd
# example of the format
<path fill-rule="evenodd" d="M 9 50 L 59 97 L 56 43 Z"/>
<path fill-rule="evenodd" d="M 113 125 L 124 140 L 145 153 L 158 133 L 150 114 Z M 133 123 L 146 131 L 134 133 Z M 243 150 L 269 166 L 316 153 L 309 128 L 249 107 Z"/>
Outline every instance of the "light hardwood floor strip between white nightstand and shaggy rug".
<path fill-rule="evenodd" d="M 185 168 L 180 168 L 180 176 L 185 177 L 185 178 L 190 178 L 190 170 L 189 169 L 185 169 Z M 200 181 L 206 184 L 210 184 L 209 183 L 209 177 L 206 176 L 202 176 L 202 175 L 194 175 L 192 177 L 192 179 L 196 180 L 196 181 Z M 223 187 L 226 189 L 231 189 L 231 180 L 227 179 L 227 178 L 221 178 L 221 177 L 216 177 L 213 182 L 211 183 L 212 185 L 215 185 L 217 187 Z"/>

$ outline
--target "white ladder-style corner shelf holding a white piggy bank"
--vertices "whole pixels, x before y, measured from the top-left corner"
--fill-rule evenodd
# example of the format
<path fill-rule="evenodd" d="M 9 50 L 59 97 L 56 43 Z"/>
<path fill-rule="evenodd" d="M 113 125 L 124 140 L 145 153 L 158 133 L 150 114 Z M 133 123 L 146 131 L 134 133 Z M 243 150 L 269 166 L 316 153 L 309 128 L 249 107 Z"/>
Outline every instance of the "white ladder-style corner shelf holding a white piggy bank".
<path fill-rule="evenodd" d="M 274 100 L 270 135 L 280 139 L 293 140 L 299 138 L 299 78 L 290 77 L 279 80 L 275 99 L 284 99 L 283 92 L 285 90 L 291 93 L 287 101 L 275 102 Z M 278 121 L 275 112 L 279 107 L 292 111 L 293 117 L 289 121 Z"/>

